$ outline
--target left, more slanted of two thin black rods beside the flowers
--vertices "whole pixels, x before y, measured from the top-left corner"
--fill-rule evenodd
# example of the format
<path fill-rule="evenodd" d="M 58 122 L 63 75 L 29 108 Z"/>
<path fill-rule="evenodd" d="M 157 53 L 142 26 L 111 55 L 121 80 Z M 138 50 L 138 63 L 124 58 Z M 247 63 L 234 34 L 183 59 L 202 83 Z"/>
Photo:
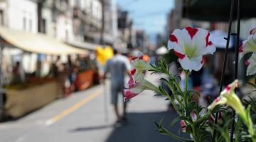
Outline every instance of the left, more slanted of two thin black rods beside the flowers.
<path fill-rule="evenodd" d="M 224 62 L 223 62 L 223 68 L 222 68 L 221 77 L 220 77 L 219 94 L 223 89 L 223 79 L 224 79 L 224 75 L 225 75 L 225 67 L 226 67 L 226 62 L 227 62 L 227 58 L 228 58 L 228 46 L 229 46 L 229 43 L 230 43 L 230 34 L 231 34 L 231 27 L 232 27 L 232 20 L 233 20 L 234 3 L 235 3 L 235 0 L 231 0 L 230 18 L 229 18 L 229 24 L 228 24 L 228 38 L 227 38 L 227 43 L 226 43 L 226 47 L 225 47 Z M 218 112 L 215 115 L 215 121 L 214 122 L 215 122 L 215 124 L 218 123 Z M 216 136 L 216 130 L 214 129 L 213 138 L 215 138 L 215 136 Z"/>

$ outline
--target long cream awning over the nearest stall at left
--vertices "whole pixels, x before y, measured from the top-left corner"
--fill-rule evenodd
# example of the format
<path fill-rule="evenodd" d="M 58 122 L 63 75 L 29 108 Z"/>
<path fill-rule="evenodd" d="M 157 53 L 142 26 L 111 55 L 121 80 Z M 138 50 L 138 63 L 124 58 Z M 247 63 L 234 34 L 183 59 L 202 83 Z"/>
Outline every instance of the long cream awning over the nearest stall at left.
<path fill-rule="evenodd" d="M 0 36 L 6 43 L 31 53 L 41 53 L 46 55 L 87 53 L 87 50 L 73 48 L 70 45 L 66 45 L 55 38 L 50 38 L 41 33 L 33 34 L 0 27 Z"/>

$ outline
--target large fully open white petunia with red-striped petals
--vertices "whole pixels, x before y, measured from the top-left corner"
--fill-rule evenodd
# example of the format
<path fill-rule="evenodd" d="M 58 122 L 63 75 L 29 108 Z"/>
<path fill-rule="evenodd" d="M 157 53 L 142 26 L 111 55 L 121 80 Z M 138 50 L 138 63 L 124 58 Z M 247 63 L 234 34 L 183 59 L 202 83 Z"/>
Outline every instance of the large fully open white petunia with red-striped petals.
<path fill-rule="evenodd" d="M 198 71 L 203 66 L 203 55 L 213 54 L 216 50 L 209 36 L 209 31 L 203 28 L 176 29 L 169 37 L 168 48 L 174 49 L 183 69 Z"/>

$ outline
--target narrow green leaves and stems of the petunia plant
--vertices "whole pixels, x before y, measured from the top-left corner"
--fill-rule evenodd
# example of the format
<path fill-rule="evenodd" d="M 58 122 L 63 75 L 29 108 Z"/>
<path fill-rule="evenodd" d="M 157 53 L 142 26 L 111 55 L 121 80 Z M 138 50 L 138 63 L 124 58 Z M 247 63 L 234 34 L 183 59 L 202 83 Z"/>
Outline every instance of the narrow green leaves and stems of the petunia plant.
<path fill-rule="evenodd" d="M 176 57 L 171 50 L 168 53 L 168 57 Z M 172 56 L 173 55 L 173 56 Z M 173 126 L 178 123 L 178 121 L 183 120 L 186 123 L 186 133 L 191 135 L 191 140 L 187 138 L 182 138 L 180 136 L 176 136 L 174 133 L 171 133 L 168 129 L 164 128 L 163 121 L 161 119 L 159 123 L 154 122 L 156 125 L 156 130 L 159 133 L 171 136 L 178 141 L 198 141 L 198 142 L 225 142 L 229 141 L 230 135 L 230 126 L 233 121 L 230 113 L 230 109 L 228 107 L 217 106 L 211 111 L 207 111 L 204 113 L 206 109 L 198 105 L 197 102 L 194 101 L 194 97 L 200 97 L 201 94 L 188 90 L 187 87 L 185 89 L 181 89 L 178 82 L 181 81 L 180 75 L 172 75 L 169 71 L 170 63 L 176 60 L 176 58 L 166 58 L 159 59 L 155 65 L 151 65 L 153 68 L 152 73 L 163 73 L 167 75 L 167 77 L 162 77 L 161 85 L 159 87 L 159 92 L 156 95 L 162 95 L 166 97 L 166 100 L 169 100 L 176 109 L 178 113 L 178 117 L 174 119 L 169 126 Z M 188 72 L 185 71 L 186 78 L 188 78 Z M 187 83 L 187 80 L 186 80 Z M 256 79 L 255 84 L 250 83 L 253 87 L 256 88 Z M 249 100 L 243 100 L 245 106 L 247 107 L 247 115 L 250 116 L 252 114 L 252 120 L 256 122 L 256 97 L 249 97 Z M 219 113 L 220 116 L 218 118 L 218 123 L 214 123 L 215 113 Z M 194 117 L 192 116 L 194 115 Z M 195 119 L 196 118 L 196 119 Z M 247 131 L 247 127 L 244 124 L 244 121 L 241 121 L 240 118 L 235 121 L 235 141 L 251 141 L 250 134 Z M 213 131 L 216 131 L 215 136 L 213 136 Z M 256 129 L 255 129 L 256 131 Z"/>

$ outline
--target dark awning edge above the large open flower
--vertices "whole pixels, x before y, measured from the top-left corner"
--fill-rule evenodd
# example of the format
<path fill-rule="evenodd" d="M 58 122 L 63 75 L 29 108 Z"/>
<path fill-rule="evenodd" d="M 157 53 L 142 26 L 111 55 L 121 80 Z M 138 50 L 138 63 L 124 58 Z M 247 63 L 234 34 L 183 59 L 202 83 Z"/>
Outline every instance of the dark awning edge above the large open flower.
<path fill-rule="evenodd" d="M 255 17 L 256 1 L 243 0 L 241 2 L 241 18 Z M 231 0 L 183 0 L 183 17 L 199 21 L 228 21 L 230 4 Z M 236 17 L 237 11 L 234 11 L 233 20 Z"/>

